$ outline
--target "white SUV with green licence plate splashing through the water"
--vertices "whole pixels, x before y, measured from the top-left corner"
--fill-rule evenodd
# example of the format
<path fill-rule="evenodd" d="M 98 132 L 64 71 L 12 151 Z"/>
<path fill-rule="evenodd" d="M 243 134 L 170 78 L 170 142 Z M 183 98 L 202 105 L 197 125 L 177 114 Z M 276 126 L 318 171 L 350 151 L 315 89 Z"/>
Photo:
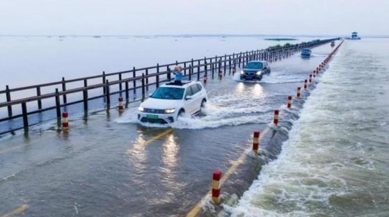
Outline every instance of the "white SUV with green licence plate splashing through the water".
<path fill-rule="evenodd" d="M 138 120 L 167 124 L 177 121 L 186 113 L 196 115 L 207 102 L 207 90 L 198 81 L 183 81 L 180 84 L 166 83 L 138 108 Z"/>

